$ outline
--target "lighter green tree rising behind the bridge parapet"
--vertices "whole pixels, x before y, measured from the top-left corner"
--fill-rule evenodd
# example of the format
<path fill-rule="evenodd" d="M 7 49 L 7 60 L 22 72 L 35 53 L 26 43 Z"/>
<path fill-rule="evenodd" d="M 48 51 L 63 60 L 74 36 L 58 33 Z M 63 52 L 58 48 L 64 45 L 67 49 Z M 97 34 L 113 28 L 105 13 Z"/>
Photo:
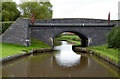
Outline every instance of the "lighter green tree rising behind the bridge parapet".
<path fill-rule="evenodd" d="M 52 5 L 50 2 L 22 2 L 19 5 L 23 15 L 22 17 L 30 18 L 34 13 L 36 19 L 52 18 Z"/>

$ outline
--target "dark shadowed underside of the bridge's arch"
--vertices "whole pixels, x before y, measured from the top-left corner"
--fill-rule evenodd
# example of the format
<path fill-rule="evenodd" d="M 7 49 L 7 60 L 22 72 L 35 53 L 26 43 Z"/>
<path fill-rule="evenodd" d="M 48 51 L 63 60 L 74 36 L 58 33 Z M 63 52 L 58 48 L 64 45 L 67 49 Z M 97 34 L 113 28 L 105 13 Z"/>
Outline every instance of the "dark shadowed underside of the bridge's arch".
<path fill-rule="evenodd" d="M 82 34 L 80 32 L 76 32 L 76 31 L 60 31 L 56 34 L 53 35 L 52 39 L 54 39 L 56 36 L 60 35 L 61 33 L 64 32 L 70 32 L 70 33 L 74 33 L 75 35 L 79 36 L 79 38 L 81 39 L 81 47 L 87 47 L 88 46 L 88 37 L 85 34 Z"/>

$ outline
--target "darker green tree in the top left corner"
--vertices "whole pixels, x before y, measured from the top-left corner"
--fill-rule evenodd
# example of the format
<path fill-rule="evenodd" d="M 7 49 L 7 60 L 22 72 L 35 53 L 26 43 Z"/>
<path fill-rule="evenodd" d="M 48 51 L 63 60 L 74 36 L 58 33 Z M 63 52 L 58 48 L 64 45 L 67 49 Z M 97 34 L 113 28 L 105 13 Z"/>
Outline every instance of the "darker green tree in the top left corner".
<path fill-rule="evenodd" d="M 19 16 L 15 2 L 2 2 L 2 21 L 15 21 Z"/>

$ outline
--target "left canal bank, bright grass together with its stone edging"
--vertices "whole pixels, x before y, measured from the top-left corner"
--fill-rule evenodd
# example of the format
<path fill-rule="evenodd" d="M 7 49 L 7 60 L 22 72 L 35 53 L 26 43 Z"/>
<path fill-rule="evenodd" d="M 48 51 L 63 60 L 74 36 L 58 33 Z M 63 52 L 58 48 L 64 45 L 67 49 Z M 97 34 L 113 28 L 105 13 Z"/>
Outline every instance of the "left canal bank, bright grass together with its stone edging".
<path fill-rule="evenodd" d="M 43 43 L 42 41 L 32 39 L 31 46 L 26 47 L 17 44 L 2 44 L 2 56 L 0 63 L 7 63 L 25 56 L 29 56 L 33 53 L 51 52 L 53 48 Z"/>

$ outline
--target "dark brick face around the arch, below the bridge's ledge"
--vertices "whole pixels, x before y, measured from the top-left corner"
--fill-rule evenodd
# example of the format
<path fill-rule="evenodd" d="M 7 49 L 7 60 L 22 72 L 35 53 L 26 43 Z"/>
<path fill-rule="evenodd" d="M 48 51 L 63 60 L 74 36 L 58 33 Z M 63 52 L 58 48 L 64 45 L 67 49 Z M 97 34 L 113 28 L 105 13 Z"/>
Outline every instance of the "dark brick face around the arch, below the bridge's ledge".
<path fill-rule="evenodd" d="M 82 40 L 82 46 L 103 45 L 112 27 L 31 27 L 31 37 L 53 45 L 51 39 L 63 32 L 72 32 Z"/>

